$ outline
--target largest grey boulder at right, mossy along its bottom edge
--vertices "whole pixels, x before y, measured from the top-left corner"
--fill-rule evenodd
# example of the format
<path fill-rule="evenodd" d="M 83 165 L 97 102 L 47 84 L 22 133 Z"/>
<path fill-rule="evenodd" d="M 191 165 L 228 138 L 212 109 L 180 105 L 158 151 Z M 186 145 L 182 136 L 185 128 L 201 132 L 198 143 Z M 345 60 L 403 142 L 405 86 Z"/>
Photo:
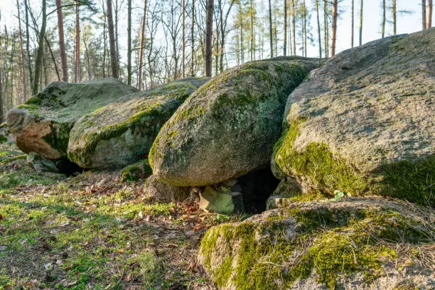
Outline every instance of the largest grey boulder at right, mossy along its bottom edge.
<path fill-rule="evenodd" d="M 276 177 L 435 205 L 435 28 L 346 50 L 289 96 Z"/>

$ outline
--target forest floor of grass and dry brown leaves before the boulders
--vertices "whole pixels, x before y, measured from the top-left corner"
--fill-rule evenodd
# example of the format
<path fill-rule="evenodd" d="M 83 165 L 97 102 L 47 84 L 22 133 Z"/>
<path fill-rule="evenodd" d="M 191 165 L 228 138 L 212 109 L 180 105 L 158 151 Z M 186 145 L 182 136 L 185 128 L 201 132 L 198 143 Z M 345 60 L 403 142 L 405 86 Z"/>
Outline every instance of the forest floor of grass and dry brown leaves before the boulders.
<path fill-rule="evenodd" d="M 0 144 L 0 289 L 214 289 L 200 240 L 241 218 L 149 196 L 119 172 L 36 173 Z"/>

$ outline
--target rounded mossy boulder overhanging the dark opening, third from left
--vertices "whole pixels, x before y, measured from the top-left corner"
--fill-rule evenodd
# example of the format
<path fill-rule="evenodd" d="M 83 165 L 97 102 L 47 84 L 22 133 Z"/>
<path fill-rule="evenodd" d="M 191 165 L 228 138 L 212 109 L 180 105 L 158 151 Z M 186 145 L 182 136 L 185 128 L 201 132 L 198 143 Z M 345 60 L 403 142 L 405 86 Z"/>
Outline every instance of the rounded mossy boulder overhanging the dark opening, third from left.
<path fill-rule="evenodd" d="M 161 129 L 149 156 L 154 174 L 173 186 L 204 186 L 267 166 L 289 93 L 319 65 L 275 58 L 218 75 Z"/>

